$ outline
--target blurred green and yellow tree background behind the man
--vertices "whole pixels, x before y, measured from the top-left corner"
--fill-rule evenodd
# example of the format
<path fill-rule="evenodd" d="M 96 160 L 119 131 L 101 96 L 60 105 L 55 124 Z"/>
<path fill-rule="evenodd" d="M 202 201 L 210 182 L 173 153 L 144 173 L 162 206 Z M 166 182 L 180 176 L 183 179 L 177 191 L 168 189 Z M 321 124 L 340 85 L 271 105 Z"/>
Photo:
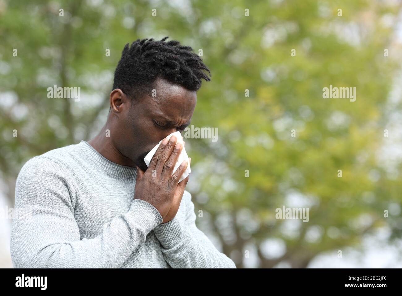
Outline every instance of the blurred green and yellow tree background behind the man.
<path fill-rule="evenodd" d="M 211 69 L 191 124 L 218 140 L 186 139 L 187 190 L 220 251 L 238 268 L 402 267 L 397 0 L 0 0 L 0 267 L 23 164 L 94 136 L 125 43 L 164 36 Z M 324 99 L 329 85 L 356 101 Z M 308 223 L 276 219 L 283 206 Z"/>

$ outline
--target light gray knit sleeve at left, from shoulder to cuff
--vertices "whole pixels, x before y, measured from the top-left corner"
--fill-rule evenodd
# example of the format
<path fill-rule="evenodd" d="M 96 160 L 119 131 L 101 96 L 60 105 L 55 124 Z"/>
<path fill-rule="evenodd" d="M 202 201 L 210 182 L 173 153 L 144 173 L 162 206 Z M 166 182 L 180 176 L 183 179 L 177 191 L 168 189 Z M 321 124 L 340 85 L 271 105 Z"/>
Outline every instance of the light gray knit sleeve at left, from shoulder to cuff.
<path fill-rule="evenodd" d="M 94 238 L 80 238 L 70 195 L 71 180 L 59 164 L 34 157 L 18 175 L 10 250 L 15 268 L 117 268 L 162 222 L 150 203 L 134 199 L 127 213 L 103 225 Z"/>

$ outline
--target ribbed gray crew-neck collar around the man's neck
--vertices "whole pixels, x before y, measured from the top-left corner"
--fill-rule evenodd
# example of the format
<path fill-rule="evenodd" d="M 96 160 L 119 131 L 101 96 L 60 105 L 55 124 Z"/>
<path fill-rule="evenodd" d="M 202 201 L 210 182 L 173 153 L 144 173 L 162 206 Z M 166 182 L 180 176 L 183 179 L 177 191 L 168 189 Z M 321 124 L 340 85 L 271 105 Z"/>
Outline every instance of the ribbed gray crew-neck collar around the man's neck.
<path fill-rule="evenodd" d="M 102 154 L 100 154 L 94 147 L 88 142 L 81 141 L 78 146 L 80 147 L 83 158 L 92 162 L 97 168 L 103 170 L 105 174 L 113 178 L 124 178 L 129 180 L 135 180 L 137 178 L 137 168 L 130 166 L 121 166 L 113 161 L 110 161 Z"/>

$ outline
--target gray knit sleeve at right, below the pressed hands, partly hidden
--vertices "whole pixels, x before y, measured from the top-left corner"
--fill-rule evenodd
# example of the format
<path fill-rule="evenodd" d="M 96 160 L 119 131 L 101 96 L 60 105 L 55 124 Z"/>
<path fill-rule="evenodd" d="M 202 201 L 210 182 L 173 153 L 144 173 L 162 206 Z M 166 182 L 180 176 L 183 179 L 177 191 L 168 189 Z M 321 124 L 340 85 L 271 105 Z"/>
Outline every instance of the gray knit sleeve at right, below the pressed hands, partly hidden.
<path fill-rule="evenodd" d="M 176 215 L 169 222 L 154 228 L 165 260 L 173 268 L 236 268 L 234 262 L 220 253 L 197 228 L 194 203 L 191 201 L 191 194 L 188 195 L 190 198 L 184 225 Z"/>

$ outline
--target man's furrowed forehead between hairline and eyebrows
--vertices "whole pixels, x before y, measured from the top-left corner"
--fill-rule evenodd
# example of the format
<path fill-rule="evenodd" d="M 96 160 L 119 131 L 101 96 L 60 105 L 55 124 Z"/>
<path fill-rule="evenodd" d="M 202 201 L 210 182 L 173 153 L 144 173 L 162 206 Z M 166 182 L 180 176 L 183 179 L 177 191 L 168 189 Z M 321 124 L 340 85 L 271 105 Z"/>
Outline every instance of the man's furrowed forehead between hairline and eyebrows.
<path fill-rule="evenodd" d="M 165 79 L 157 79 L 154 89 L 153 93 L 156 96 L 143 98 L 146 110 L 152 116 L 162 116 L 172 122 L 191 118 L 197 103 L 196 91 L 174 85 Z"/>

